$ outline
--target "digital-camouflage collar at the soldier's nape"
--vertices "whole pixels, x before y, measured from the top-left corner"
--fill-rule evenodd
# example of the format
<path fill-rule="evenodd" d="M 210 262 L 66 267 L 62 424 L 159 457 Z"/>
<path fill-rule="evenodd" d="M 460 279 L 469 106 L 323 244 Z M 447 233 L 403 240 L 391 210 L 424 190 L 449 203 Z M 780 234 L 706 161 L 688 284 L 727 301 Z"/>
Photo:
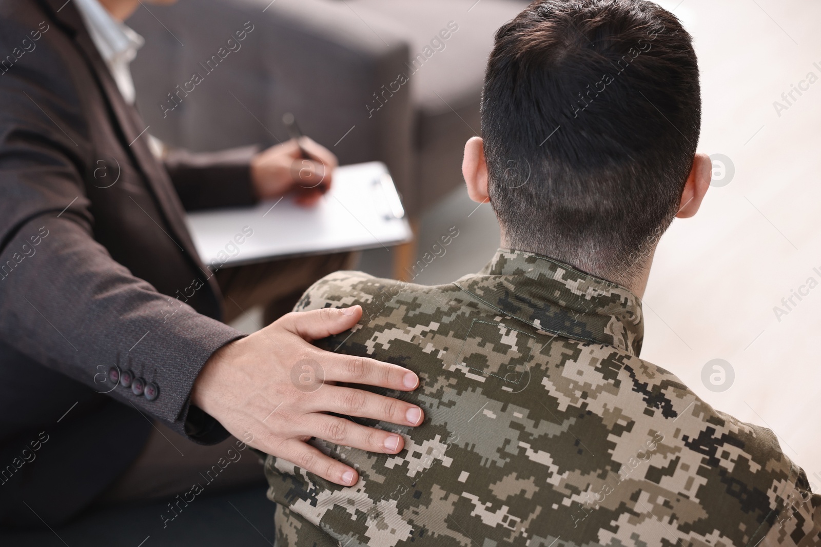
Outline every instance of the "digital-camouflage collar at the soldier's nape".
<path fill-rule="evenodd" d="M 539 330 L 616 346 L 638 356 L 641 301 L 629 289 L 534 253 L 500 248 L 479 273 L 455 285 Z"/>

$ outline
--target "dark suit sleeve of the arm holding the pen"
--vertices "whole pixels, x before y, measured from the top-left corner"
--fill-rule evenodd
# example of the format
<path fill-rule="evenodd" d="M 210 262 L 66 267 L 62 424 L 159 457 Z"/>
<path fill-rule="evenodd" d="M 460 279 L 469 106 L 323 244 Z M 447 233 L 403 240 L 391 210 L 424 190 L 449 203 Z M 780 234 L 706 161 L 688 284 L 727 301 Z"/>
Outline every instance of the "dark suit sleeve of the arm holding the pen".
<path fill-rule="evenodd" d="M 186 211 L 245 207 L 256 201 L 250 160 L 257 152 L 256 146 L 210 153 L 172 148 L 164 162 Z"/>

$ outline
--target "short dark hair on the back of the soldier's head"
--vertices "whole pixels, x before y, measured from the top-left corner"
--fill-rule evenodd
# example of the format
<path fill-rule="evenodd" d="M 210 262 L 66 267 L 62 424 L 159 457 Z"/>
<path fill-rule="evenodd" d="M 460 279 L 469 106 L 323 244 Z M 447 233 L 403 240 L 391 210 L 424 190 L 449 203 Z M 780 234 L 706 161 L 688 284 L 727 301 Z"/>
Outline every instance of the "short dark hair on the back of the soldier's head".
<path fill-rule="evenodd" d="M 496 33 L 482 101 L 511 246 L 629 280 L 677 212 L 699 140 L 690 34 L 643 0 L 537 0 Z"/>

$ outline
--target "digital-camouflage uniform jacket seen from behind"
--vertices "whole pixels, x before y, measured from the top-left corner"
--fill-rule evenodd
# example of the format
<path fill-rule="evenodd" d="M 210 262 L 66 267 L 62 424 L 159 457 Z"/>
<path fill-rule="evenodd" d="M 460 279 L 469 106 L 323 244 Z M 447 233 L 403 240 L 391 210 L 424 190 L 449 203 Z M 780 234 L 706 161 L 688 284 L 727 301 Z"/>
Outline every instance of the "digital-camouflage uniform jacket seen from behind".
<path fill-rule="evenodd" d="M 502 249 L 451 285 L 337 272 L 297 308 L 353 304 L 362 324 L 318 345 L 418 372 L 381 393 L 425 420 L 379 423 L 396 455 L 314 440 L 360 471 L 351 488 L 268 456 L 279 547 L 821 544 L 821 499 L 775 435 L 638 357 L 628 289 Z"/>

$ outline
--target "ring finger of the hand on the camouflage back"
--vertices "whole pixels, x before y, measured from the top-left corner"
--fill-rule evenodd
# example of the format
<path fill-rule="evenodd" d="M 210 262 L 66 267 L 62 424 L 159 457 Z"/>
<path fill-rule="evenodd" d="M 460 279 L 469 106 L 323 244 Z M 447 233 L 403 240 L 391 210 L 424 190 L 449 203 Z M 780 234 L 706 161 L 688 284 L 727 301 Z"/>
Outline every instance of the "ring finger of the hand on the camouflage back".
<path fill-rule="evenodd" d="M 346 418 L 328 414 L 310 414 L 310 417 L 305 420 L 305 435 L 342 446 L 383 454 L 397 454 L 405 448 L 405 440 L 401 435 L 365 427 Z"/>

